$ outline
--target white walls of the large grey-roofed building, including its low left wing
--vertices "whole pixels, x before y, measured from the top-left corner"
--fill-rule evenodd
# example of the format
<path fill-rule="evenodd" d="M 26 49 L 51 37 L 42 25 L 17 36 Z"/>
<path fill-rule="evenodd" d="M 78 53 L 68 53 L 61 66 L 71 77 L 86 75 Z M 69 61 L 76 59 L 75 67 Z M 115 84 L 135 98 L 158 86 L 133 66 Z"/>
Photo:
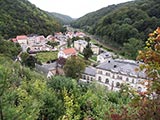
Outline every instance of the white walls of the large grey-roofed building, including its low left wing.
<path fill-rule="evenodd" d="M 114 73 L 102 69 L 97 69 L 95 76 L 83 74 L 82 80 L 85 82 L 91 82 L 93 80 L 96 80 L 98 83 L 106 86 L 109 90 L 114 90 L 114 91 L 120 90 L 121 84 L 127 84 L 135 90 L 141 89 L 140 90 L 141 92 L 146 91 L 146 87 L 142 85 L 142 82 L 145 81 L 144 79 L 136 78 L 129 75 L 123 75 L 120 73 Z"/>

